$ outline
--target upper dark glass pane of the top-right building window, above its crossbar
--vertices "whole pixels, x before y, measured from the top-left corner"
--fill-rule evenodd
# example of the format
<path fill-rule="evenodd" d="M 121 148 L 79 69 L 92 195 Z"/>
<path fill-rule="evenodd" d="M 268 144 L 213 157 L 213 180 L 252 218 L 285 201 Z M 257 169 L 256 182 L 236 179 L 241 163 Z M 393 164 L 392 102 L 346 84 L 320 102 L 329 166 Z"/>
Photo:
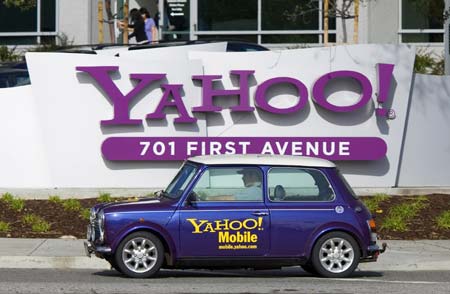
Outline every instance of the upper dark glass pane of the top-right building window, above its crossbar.
<path fill-rule="evenodd" d="M 402 29 L 442 29 L 444 0 L 402 0 Z"/>

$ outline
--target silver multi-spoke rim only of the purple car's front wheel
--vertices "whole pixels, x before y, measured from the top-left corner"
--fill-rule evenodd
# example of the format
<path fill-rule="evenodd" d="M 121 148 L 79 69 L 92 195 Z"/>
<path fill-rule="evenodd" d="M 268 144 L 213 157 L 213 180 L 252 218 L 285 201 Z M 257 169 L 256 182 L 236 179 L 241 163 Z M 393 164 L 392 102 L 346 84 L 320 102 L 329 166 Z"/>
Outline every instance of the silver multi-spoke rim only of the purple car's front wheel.
<path fill-rule="evenodd" d="M 123 247 L 123 263 L 132 272 L 148 272 L 155 266 L 157 259 L 156 246 L 147 238 L 133 238 Z"/>

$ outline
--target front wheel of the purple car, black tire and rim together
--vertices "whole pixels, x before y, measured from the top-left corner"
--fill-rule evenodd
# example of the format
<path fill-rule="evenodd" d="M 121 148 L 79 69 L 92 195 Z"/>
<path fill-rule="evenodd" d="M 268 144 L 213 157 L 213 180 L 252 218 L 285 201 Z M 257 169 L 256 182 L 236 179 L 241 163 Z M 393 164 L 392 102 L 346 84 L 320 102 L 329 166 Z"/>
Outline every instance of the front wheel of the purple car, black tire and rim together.
<path fill-rule="evenodd" d="M 139 231 L 120 242 L 114 257 L 119 271 L 126 276 L 150 278 L 164 262 L 164 246 L 154 234 Z"/>

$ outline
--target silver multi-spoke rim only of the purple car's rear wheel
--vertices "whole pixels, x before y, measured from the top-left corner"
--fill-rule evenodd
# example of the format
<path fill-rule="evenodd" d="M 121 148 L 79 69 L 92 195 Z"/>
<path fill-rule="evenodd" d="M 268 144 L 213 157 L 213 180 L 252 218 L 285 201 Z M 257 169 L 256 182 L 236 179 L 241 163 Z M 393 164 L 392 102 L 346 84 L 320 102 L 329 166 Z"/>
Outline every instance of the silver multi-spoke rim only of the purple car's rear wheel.
<path fill-rule="evenodd" d="M 319 259 L 324 269 L 338 274 L 345 272 L 353 264 L 355 252 L 347 240 L 331 238 L 322 244 Z"/>

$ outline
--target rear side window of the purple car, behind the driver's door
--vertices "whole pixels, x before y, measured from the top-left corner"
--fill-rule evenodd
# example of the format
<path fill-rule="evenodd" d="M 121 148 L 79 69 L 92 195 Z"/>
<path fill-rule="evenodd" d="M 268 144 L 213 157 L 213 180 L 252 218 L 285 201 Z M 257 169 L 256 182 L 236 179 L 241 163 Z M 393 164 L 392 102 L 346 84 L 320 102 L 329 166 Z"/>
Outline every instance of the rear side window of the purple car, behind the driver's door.
<path fill-rule="evenodd" d="M 267 175 L 271 201 L 331 201 L 334 192 L 325 175 L 316 169 L 280 167 Z"/>

